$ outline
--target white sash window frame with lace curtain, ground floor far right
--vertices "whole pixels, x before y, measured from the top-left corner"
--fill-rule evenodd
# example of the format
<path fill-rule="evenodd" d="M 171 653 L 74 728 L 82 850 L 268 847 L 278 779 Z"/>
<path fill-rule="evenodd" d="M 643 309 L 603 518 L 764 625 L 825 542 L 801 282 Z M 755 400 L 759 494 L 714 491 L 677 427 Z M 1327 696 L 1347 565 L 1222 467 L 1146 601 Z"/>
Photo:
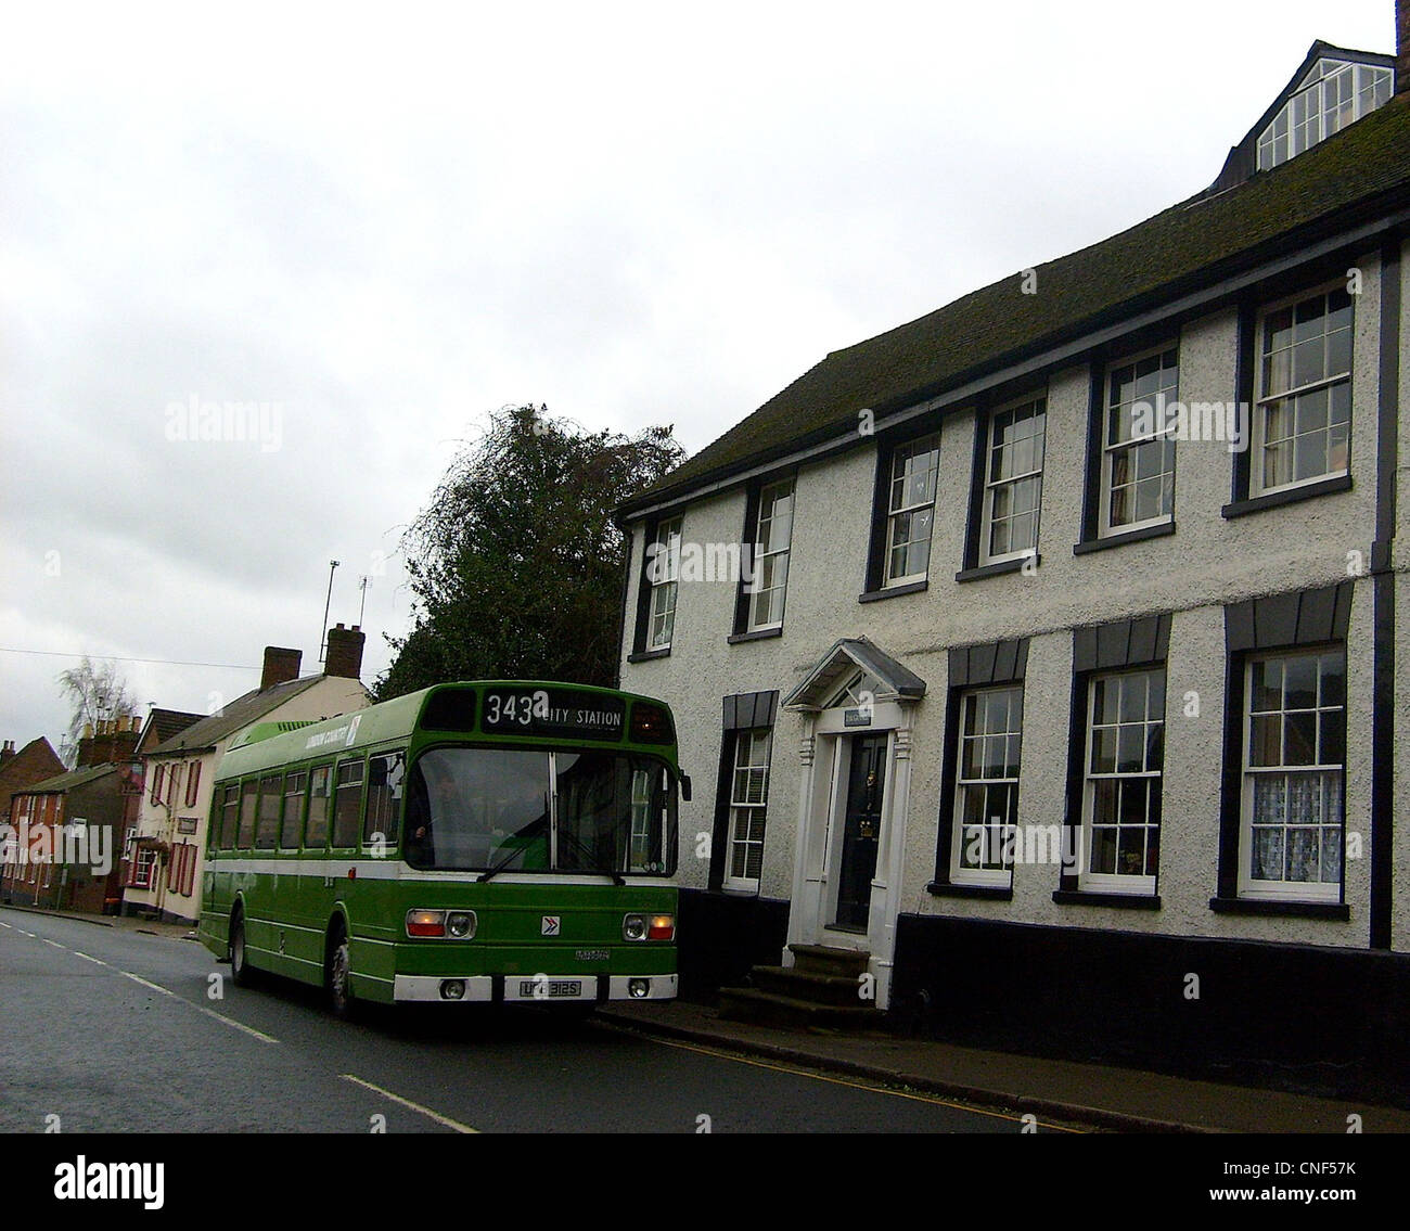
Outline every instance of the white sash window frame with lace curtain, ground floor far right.
<path fill-rule="evenodd" d="M 1324 712 L 1334 714 L 1340 709 L 1342 725 L 1341 730 L 1341 746 L 1342 746 L 1342 760 L 1340 764 L 1279 764 L 1279 766 L 1252 766 L 1252 737 L 1253 737 L 1253 667 L 1259 663 L 1269 663 L 1275 660 L 1289 660 L 1289 659 L 1317 659 L 1318 661 L 1328 656 L 1341 657 L 1341 677 L 1342 688 L 1347 687 L 1347 650 L 1344 644 L 1334 646 L 1316 646 L 1316 647 L 1296 647 L 1289 650 L 1276 650 L 1269 653 L 1249 654 L 1244 661 L 1244 714 L 1242 714 L 1242 733 L 1244 745 L 1239 753 L 1239 773 L 1242 778 L 1241 792 L 1239 792 L 1239 863 L 1238 863 L 1238 895 L 1241 898 L 1262 898 L 1272 901 L 1300 901 L 1300 902 L 1340 902 L 1342 898 L 1342 884 L 1347 878 L 1347 697 L 1342 695 L 1341 705 L 1324 706 L 1321 705 L 1323 697 L 1323 677 L 1318 670 L 1317 674 L 1317 706 L 1313 711 L 1317 714 L 1317 739 L 1320 745 L 1321 739 L 1321 715 Z M 1286 692 L 1285 692 L 1286 701 Z M 1282 704 L 1282 702 L 1280 702 Z M 1259 711 L 1261 715 L 1279 712 L 1287 714 L 1306 714 L 1307 711 Z M 1286 754 L 1286 745 L 1285 753 Z M 1261 776 L 1276 776 L 1283 774 L 1285 778 L 1293 774 L 1324 774 L 1335 776 L 1338 780 L 1338 787 L 1341 792 L 1340 811 L 1341 811 L 1341 877 L 1334 881 L 1292 881 L 1292 880 L 1269 880 L 1259 877 L 1253 878 L 1253 787 L 1256 778 Z M 1286 857 L 1286 840 L 1287 829 L 1293 826 L 1293 822 L 1283 822 L 1285 832 L 1285 857 Z M 1331 826 L 1320 825 L 1318 828 L 1327 829 Z M 1318 843 L 1318 850 L 1321 845 Z"/>

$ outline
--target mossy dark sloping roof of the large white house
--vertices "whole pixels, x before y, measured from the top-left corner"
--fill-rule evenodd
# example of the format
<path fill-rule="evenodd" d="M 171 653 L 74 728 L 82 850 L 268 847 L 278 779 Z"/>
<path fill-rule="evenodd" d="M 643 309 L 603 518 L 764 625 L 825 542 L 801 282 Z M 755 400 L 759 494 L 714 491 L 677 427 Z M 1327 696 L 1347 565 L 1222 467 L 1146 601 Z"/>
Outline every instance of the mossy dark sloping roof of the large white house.
<path fill-rule="evenodd" d="M 1373 216 L 1410 188 L 1410 97 L 1272 171 L 1200 193 L 1089 248 L 1014 274 L 926 316 L 833 351 L 753 415 L 622 506 L 685 496 L 754 461 L 853 433 L 857 413 L 904 409 L 1087 330 L 1173 299 L 1277 251 L 1294 233 Z"/>

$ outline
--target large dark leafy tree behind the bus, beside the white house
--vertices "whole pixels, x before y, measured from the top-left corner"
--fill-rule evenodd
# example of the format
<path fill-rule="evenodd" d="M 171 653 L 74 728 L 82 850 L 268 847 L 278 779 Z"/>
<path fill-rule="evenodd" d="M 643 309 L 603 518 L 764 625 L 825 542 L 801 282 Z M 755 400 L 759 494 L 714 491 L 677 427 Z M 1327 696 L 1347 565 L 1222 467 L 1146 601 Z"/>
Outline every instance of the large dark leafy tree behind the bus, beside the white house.
<path fill-rule="evenodd" d="M 388 639 L 378 699 L 446 680 L 611 687 L 627 551 L 612 509 L 684 457 L 670 427 L 629 437 L 547 406 L 495 412 L 403 536 L 415 625 Z"/>

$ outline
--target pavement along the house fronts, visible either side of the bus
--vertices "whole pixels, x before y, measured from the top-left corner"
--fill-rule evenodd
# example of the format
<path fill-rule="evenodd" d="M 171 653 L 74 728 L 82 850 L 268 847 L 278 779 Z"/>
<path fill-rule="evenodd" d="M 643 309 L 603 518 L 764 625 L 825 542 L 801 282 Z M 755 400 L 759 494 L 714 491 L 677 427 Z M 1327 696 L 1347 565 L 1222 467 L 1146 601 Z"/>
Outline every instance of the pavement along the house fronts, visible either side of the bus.
<path fill-rule="evenodd" d="M 196 938 L 185 924 L 78 912 L 62 912 L 62 918 L 178 941 Z M 657 1038 L 1117 1132 L 1345 1134 L 1351 1115 L 1361 1117 L 1363 1132 L 1410 1132 L 1410 1110 L 1404 1108 L 883 1032 L 774 1029 L 725 1021 L 716 1010 L 684 1000 L 618 1003 L 601 1007 L 596 1017 Z"/>

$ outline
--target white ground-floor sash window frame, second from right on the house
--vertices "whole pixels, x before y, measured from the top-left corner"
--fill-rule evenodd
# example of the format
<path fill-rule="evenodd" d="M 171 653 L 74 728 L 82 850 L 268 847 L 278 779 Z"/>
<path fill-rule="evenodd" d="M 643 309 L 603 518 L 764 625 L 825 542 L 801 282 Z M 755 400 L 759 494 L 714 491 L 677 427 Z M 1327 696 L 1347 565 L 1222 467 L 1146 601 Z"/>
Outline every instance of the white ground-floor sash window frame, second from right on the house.
<path fill-rule="evenodd" d="M 1097 723 L 1094 722 L 1097 716 L 1096 699 L 1097 699 L 1097 685 L 1098 684 L 1117 684 L 1122 691 L 1125 690 L 1125 680 L 1144 677 L 1159 678 L 1160 681 L 1160 698 L 1162 706 L 1159 715 L 1152 715 L 1151 712 L 1151 685 L 1146 682 L 1145 687 L 1145 705 L 1142 706 L 1142 718 L 1139 726 L 1144 728 L 1141 739 L 1141 768 L 1139 770 L 1121 770 L 1121 729 L 1124 726 L 1136 726 L 1136 722 L 1122 722 L 1121 721 L 1121 699 L 1118 694 L 1117 699 L 1117 722 L 1115 723 Z M 1153 897 L 1156 891 L 1156 881 L 1159 877 L 1159 859 L 1160 859 L 1160 833 L 1165 829 L 1165 728 L 1166 728 L 1166 706 L 1169 704 L 1169 695 L 1166 688 L 1166 668 L 1165 664 L 1160 666 L 1146 666 L 1135 668 L 1121 668 L 1115 671 L 1098 671 L 1094 673 L 1087 680 L 1086 688 L 1086 739 L 1083 740 L 1083 761 L 1081 761 L 1081 862 L 1077 866 L 1077 888 L 1090 893 L 1114 893 L 1114 894 L 1134 894 L 1134 895 L 1148 895 Z M 1097 728 L 1114 729 L 1115 730 L 1115 761 L 1111 771 L 1097 773 L 1091 767 L 1093 746 L 1096 743 Z M 1149 753 L 1151 753 L 1151 730 L 1152 728 L 1160 729 L 1160 766 L 1158 768 L 1151 768 Z M 1121 856 L 1121 831 L 1122 829 L 1155 829 L 1156 839 L 1156 871 L 1155 873 L 1120 873 L 1120 871 L 1094 871 L 1091 864 L 1097 853 L 1096 845 L 1096 812 L 1097 812 L 1097 784 L 1098 783 L 1115 783 L 1117 791 L 1124 791 L 1127 783 L 1145 783 L 1146 784 L 1146 804 L 1145 804 L 1145 825 L 1124 825 L 1120 819 L 1121 811 L 1118 804 L 1117 811 L 1117 857 Z M 1151 800 L 1152 787 L 1156 792 L 1158 819 L 1155 825 L 1151 823 Z M 1110 825 L 1103 825 L 1103 828 L 1111 828 Z M 1145 839 L 1149 843 L 1149 835 Z M 1142 847 L 1148 850 L 1149 847 Z M 1142 864 L 1145 860 L 1142 860 Z"/>

